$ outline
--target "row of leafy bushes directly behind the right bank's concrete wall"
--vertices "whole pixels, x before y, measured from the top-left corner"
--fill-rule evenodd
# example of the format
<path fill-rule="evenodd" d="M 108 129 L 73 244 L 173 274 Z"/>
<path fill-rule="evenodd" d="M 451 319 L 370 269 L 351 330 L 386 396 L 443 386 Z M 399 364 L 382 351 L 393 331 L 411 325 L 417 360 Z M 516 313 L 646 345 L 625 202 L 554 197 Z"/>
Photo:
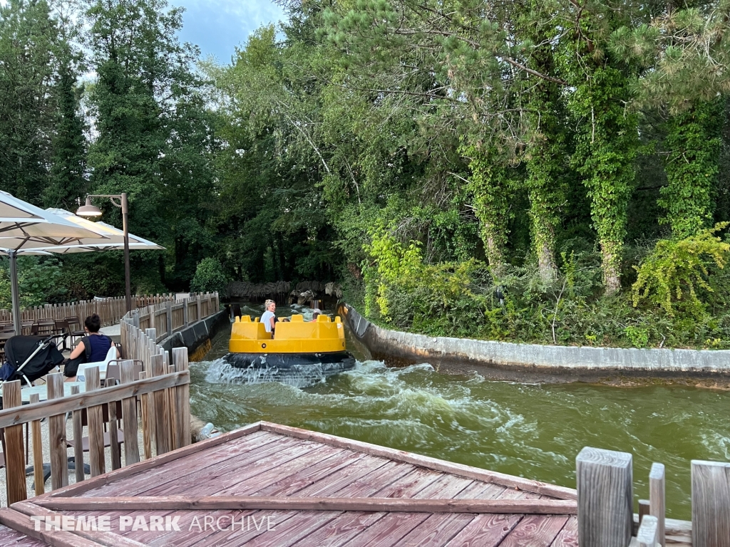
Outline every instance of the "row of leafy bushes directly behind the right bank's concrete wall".
<path fill-rule="evenodd" d="M 695 313 L 685 298 L 669 313 L 661 298 L 634 306 L 629 291 L 605 295 L 600 255 L 592 250 L 562 253 L 560 274 L 545 282 L 534 263 L 507 265 L 495 276 L 474 259 L 423 263 L 417 243 L 400 243 L 385 230 L 373 239 L 365 247 L 364 290 L 353 295 L 364 293 L 366 316 L 390 328 L 537 344 L 730 348 L 730 272 L 718 267 L 721 260 L 707 263 L 708 276 L 696 285 L 707 311 Z M 724 249 L 717 244 L 705 248 Z M 644 248 L 632 252 L 642 267 L 656 260 Z"/>

